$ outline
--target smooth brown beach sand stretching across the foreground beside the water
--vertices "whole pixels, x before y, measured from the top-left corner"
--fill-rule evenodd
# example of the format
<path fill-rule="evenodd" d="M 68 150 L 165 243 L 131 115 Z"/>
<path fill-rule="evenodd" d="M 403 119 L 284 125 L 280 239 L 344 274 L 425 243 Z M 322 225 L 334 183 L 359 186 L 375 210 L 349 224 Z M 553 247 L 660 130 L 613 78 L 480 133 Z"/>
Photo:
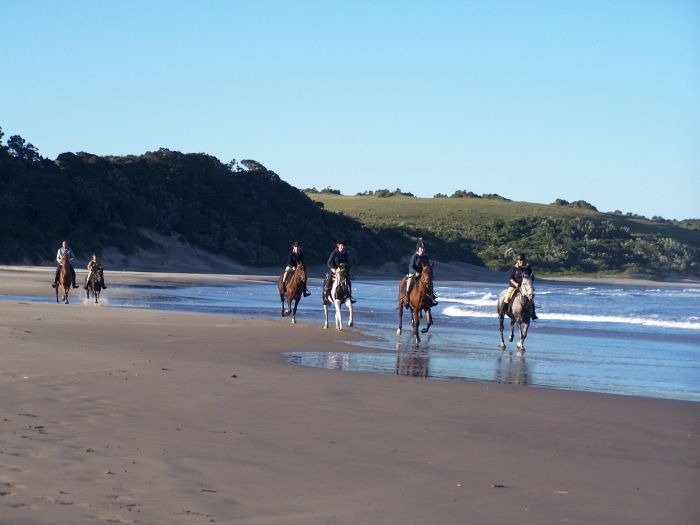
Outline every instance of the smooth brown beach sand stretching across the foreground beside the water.
<path fill-rule="evenodd" d="M 363 335 L 74 303 L 0 301 L 2 525 L 700 522 L 700 403 L 299 367 Z"/>

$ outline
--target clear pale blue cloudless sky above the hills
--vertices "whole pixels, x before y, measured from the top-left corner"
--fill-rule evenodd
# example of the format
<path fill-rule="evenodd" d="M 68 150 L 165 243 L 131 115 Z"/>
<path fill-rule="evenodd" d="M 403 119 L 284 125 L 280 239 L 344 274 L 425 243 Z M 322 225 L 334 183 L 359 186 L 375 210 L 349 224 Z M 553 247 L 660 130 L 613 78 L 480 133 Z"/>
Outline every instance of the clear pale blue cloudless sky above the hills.
<path fill-rule="evenodd" d="M 52 159 L 700 218 L 696 0 L 1 0 L 0 42 L 5 139 Z"/>

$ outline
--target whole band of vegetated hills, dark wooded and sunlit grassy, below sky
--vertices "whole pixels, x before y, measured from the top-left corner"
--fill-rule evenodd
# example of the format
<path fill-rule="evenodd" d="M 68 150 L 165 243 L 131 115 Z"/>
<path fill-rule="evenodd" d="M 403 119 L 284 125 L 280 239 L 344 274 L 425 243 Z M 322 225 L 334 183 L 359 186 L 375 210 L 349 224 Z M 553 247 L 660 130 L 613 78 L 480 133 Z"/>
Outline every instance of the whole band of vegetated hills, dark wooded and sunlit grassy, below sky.
<path fill-rule="evenodd" d="M 418 198 L 368 190 L 299 190 L 255 160 L 204 153 L 62 153 L 55 160 L 0 130 L 0 262 L 46 264 L 68 238 L 79 253 L 159 249 L 148 232 L 252 266 L 284 262 L 293 240 L 323 264 L 337 239 L 357 264 L 410 255 L 504 270 L 519 251 L 550 273 L 700 275 L 700 221 L 601 213 L 585 201 L 513 202 L 457 190 Z"/>

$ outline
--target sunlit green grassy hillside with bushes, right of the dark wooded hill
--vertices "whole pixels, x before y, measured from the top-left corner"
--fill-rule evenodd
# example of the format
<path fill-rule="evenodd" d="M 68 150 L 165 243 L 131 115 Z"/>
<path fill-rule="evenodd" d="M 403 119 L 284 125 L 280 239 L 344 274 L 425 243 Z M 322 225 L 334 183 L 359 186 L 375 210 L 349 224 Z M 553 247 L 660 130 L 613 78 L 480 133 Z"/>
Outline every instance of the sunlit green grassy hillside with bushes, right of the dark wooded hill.
<path fill-rule="evenodd" d="M 461 258 L 494 270 L 506 269 L 514 254 L 524 251 L 533 264 L 553 273 L 700 271 L 700 231 L 693 221 L 497 199 L 308 195 L 367 227 L 410 231 L 451 247 L 451 253 L 431 250 L 436 258 Z"/>

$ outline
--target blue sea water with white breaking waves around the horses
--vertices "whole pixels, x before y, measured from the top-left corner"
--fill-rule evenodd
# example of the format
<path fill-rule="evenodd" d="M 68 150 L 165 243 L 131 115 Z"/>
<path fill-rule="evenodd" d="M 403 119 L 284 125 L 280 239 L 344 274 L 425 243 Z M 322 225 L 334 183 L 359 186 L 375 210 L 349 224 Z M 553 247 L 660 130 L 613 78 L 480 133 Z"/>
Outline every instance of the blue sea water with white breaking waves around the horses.
<path fill-rule="evenodd" d="M 297 321 L 323 324 L 320 280 L 302 299 Z M 700 401 L 700 289 L 572 285 L 536 287 L 537 313 L 522 355 L 499 348 L 493 284 L 436 285 L 434 325 L 416 345 L 411 321 L 396 335 L 398 280 L 353 283 L 355 326 L 375 340 L 348 352 L 286 354 L 291 363 L 436 380 L 476 380 L 622 395 Z M 82 294 L 81 294 L 82 295 Z M 5 299 L 36 300 L 29 297 Z M 76 298 L 77 299 L 77 298 Z M 55 300 L 47 297 L 47 301 Z M 74 302 L 78 302 L 74 300 Z M 110 287 L 103 305 L 281 318 L 276 284 Z M 333 315 L 329 323 L 333 329 Z M 343 310 L 344 322 L 347 314 Z M 424 326 L 424 321 L 421 326 Z M 506 330 L 509 320 L 506 318 Z M 347 329 L 347 328 L 346 328 Z M 506 334 L 507 337 L 507 334 Z M 369 350 L 371 348 L 371 351 Z M 367 349 L 363 351 L 363 349 Z"/>

